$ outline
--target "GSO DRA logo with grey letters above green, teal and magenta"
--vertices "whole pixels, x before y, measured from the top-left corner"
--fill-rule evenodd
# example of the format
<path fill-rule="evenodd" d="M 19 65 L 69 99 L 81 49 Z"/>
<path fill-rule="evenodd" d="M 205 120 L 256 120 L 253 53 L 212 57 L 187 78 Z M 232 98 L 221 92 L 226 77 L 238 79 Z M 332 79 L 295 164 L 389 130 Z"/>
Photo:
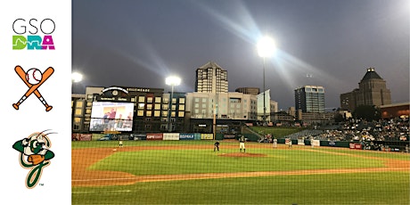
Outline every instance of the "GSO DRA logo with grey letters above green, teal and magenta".
<path fill-rule="evenodd" d="M 12 22 L 12 50 L 55 50 L 51 19 L 17 19 Z"/>

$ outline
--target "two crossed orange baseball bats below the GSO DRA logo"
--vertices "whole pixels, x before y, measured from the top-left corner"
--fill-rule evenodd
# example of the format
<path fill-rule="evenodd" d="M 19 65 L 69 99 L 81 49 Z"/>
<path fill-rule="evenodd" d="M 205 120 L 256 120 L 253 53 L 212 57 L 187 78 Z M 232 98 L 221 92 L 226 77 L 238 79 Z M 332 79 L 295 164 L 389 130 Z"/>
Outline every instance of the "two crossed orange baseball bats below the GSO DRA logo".
<path fill-rule="evenodd" d="M 34 93 L 34 94 L 36 94 L 38 100 L 40 100 L 40 102 L 42 102 L 43 105 L 45 106 L 45 111 L 51 111 L 53 109 L 53 106 L 50 106 L 50 105 L 47 104 L 47 102 L 45 102 L 45 99 L 40 94 L 40 92 L 37 90 L 37 88 L 39 86 L 41 86 L 45 82 L 45 80 L 50 78 L 50 76 L 54 72 L 54 69 L 52 67 L 47 68 L 42 73 L 42 75 L 41 75 L 42 78 L 36 85 L 32 85 L 32 84 L 29 83 L 29 81 L 26 79 L 27 73 L 20 66 L 16 66 L 16 68 L 14 68 L 14 70 L 16 71 L 17 75 L 19 75 L 21 80 L 26 84 L 26 86 L 29 86 L 29 90 L 25 94 L 23 94 L 23 96 L 21 96 L 21 99 L 20 99 L 19 102 L 13 103 L 12 107 L 14 107 L 14 109 L 16 109 L 16 110 L 19 110 L 19 106 L 21 105 L 21 103 L 24 102 L 29 97 L 30 94 Z"/>

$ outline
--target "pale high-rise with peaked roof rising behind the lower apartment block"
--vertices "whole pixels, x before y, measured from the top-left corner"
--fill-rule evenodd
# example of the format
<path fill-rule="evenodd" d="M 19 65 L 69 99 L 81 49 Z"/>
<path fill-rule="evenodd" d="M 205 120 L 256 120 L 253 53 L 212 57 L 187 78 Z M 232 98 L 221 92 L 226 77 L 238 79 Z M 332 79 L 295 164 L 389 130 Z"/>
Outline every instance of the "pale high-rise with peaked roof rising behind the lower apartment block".
<path fill-rule="evenodd" d="M 228 77 L 223 70 L 213 61 L 207 62 L 196 70 L 195 92 L 198 93 L 227 93 Z"/>

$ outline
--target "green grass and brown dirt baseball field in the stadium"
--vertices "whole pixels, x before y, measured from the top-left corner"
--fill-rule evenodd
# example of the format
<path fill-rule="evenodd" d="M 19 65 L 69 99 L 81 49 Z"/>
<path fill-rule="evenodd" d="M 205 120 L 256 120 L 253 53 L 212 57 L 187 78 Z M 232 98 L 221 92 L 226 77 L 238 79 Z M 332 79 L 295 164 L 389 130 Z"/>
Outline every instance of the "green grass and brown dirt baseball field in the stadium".
<path fill-rule="evenodd" d="M 410 204 L 410 154 L 220 141 L 72 143 L 72 204 Z"/>

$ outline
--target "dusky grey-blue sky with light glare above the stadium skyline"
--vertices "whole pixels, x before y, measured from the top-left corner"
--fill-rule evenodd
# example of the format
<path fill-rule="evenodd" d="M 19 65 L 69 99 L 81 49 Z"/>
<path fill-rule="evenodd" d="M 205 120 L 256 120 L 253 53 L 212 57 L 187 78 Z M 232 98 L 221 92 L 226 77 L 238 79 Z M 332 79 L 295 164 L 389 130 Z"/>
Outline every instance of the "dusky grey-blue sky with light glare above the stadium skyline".
<path fill-rule="evenodd" d="M 294 89 L 325 88 L 326 108 L 358 87 L 366 69 L 384 78 L 392 102 L 409 101 L 407 0 L 73 0 L 74 86 L 170 87 L 193 92 L 195 70 L 215 61 L 229 91 L 263 86 L 258 39 L 275 39 L 266 58 L 266 89 L 286 110 Z"/>

